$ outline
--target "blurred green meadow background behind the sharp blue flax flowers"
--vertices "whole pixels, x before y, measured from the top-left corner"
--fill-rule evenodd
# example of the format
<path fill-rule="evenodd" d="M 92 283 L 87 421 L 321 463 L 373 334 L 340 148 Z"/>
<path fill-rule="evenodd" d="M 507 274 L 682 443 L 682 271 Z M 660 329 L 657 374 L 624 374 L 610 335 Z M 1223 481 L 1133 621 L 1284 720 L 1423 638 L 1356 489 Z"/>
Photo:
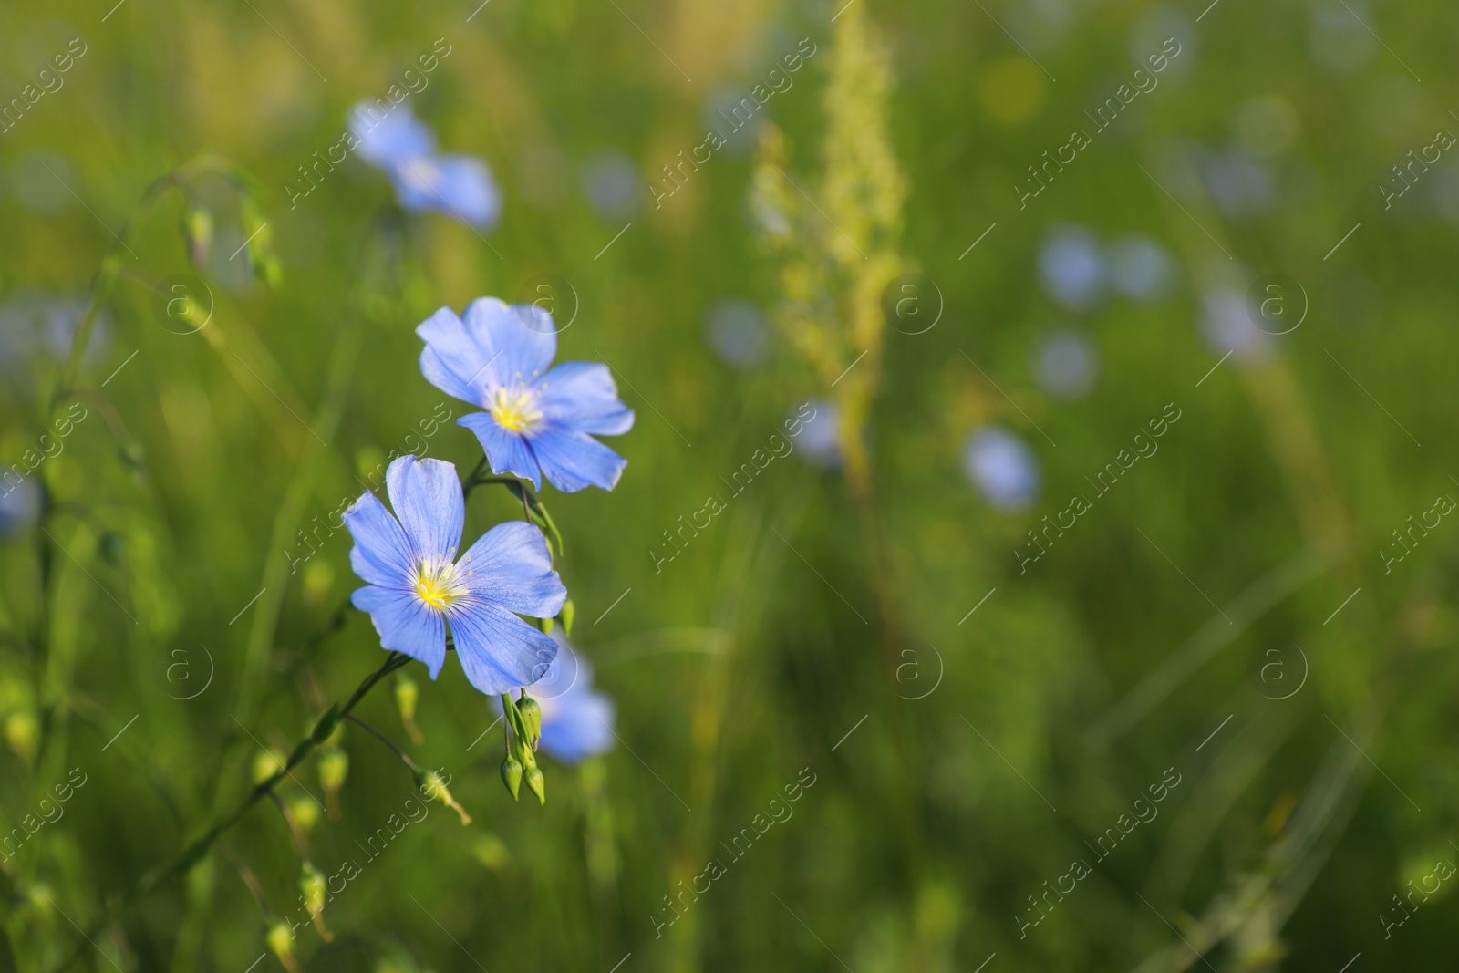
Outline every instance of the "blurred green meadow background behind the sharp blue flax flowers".
<path fill-rule="evenodd" d="M 290 207 L 438 38 L 409 105 L 499 223 L 353 156 Z M 128 891 L 379 665 L 347 535 L 290 570 L 301 531 L 392 454 L 474 465 L 413 328 L 541 282 L 638 411 L 614 492 L 543 492 L 619 744 L 514 804 L 455 662 L 406 670 L 419 743 L 384 683 L 357 713 L 473 823 L 430 805 L 287 961 L 1452 967 L 1456 38 L 1434 1 L 6 4 L 0 969 L 282 969 L 268 801 Z M 467 534 L 518 512 L 479 490 Z M 336 814 L 317 759 L 279 791 L 325 874 L 411 798 L 337 743 Z"/>

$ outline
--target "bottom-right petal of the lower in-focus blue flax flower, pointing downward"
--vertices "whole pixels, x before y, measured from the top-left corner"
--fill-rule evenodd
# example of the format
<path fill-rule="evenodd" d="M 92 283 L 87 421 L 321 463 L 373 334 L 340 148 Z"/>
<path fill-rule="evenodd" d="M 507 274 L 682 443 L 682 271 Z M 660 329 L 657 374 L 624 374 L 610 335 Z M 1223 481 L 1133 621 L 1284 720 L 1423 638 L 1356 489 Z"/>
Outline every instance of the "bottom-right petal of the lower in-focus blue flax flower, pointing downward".
<path fill-rule="evenodd" d="M 446 617 L 465 677 L 489 696 L 531 686 L 557 656 L 549 636 L 476 595 L 451 602 Z"/>

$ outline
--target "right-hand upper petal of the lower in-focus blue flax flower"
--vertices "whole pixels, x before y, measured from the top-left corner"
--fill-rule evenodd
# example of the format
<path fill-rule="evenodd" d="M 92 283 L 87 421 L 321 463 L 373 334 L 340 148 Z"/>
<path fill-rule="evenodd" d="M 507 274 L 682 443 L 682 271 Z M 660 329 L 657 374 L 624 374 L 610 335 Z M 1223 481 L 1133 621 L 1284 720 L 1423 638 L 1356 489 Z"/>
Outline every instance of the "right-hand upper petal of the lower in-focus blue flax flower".
<path fill-rule="evenodd" d="M 457 578 L 493 605 L 534 619 L 552 619 L 568 598 L 552 569 L 547 538 L 527 521 L 498 524 L 483 534 L 461 556 Z"/>

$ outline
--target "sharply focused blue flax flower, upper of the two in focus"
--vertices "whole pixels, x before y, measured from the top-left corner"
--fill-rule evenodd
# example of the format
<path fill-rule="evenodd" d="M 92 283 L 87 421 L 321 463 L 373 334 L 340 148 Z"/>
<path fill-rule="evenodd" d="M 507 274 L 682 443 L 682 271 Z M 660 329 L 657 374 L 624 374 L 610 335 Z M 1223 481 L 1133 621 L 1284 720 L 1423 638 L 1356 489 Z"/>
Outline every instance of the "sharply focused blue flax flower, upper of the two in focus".
<path fill-rule="evenodd" d="M 552 315 L 533 305 L 480 298 L 458 318 L 441 308 L 416 334 L 426 343 L 420 372 L 448 395 L 480 406 L 461 416 L 481 441 L 492 473 L 509 473 L 565 493 L 611 490 L 627 460 L 592 438 L 633 427 L 607 365 L 563 362 Z M 591 433 L 591 435 L 589 435 Z"/>

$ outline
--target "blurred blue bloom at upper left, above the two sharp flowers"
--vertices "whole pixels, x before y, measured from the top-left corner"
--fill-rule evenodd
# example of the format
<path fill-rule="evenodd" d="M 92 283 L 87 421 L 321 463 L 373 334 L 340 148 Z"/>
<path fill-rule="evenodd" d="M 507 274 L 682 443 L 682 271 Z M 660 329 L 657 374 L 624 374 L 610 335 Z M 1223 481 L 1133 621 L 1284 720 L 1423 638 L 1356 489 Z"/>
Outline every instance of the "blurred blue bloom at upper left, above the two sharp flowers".
<path fill-rule="evenodd" d="M 395 198 L 407 210 L 448 213 L 470 226 L 496 222 L 500 194 L 484 162 L 467 155 L 436 155 L 430 128 L 410 108 L 375 118 L 374 105 L 360 102 L 350 114 L 360 158 L 384 169 L 395 184 Z"/>

